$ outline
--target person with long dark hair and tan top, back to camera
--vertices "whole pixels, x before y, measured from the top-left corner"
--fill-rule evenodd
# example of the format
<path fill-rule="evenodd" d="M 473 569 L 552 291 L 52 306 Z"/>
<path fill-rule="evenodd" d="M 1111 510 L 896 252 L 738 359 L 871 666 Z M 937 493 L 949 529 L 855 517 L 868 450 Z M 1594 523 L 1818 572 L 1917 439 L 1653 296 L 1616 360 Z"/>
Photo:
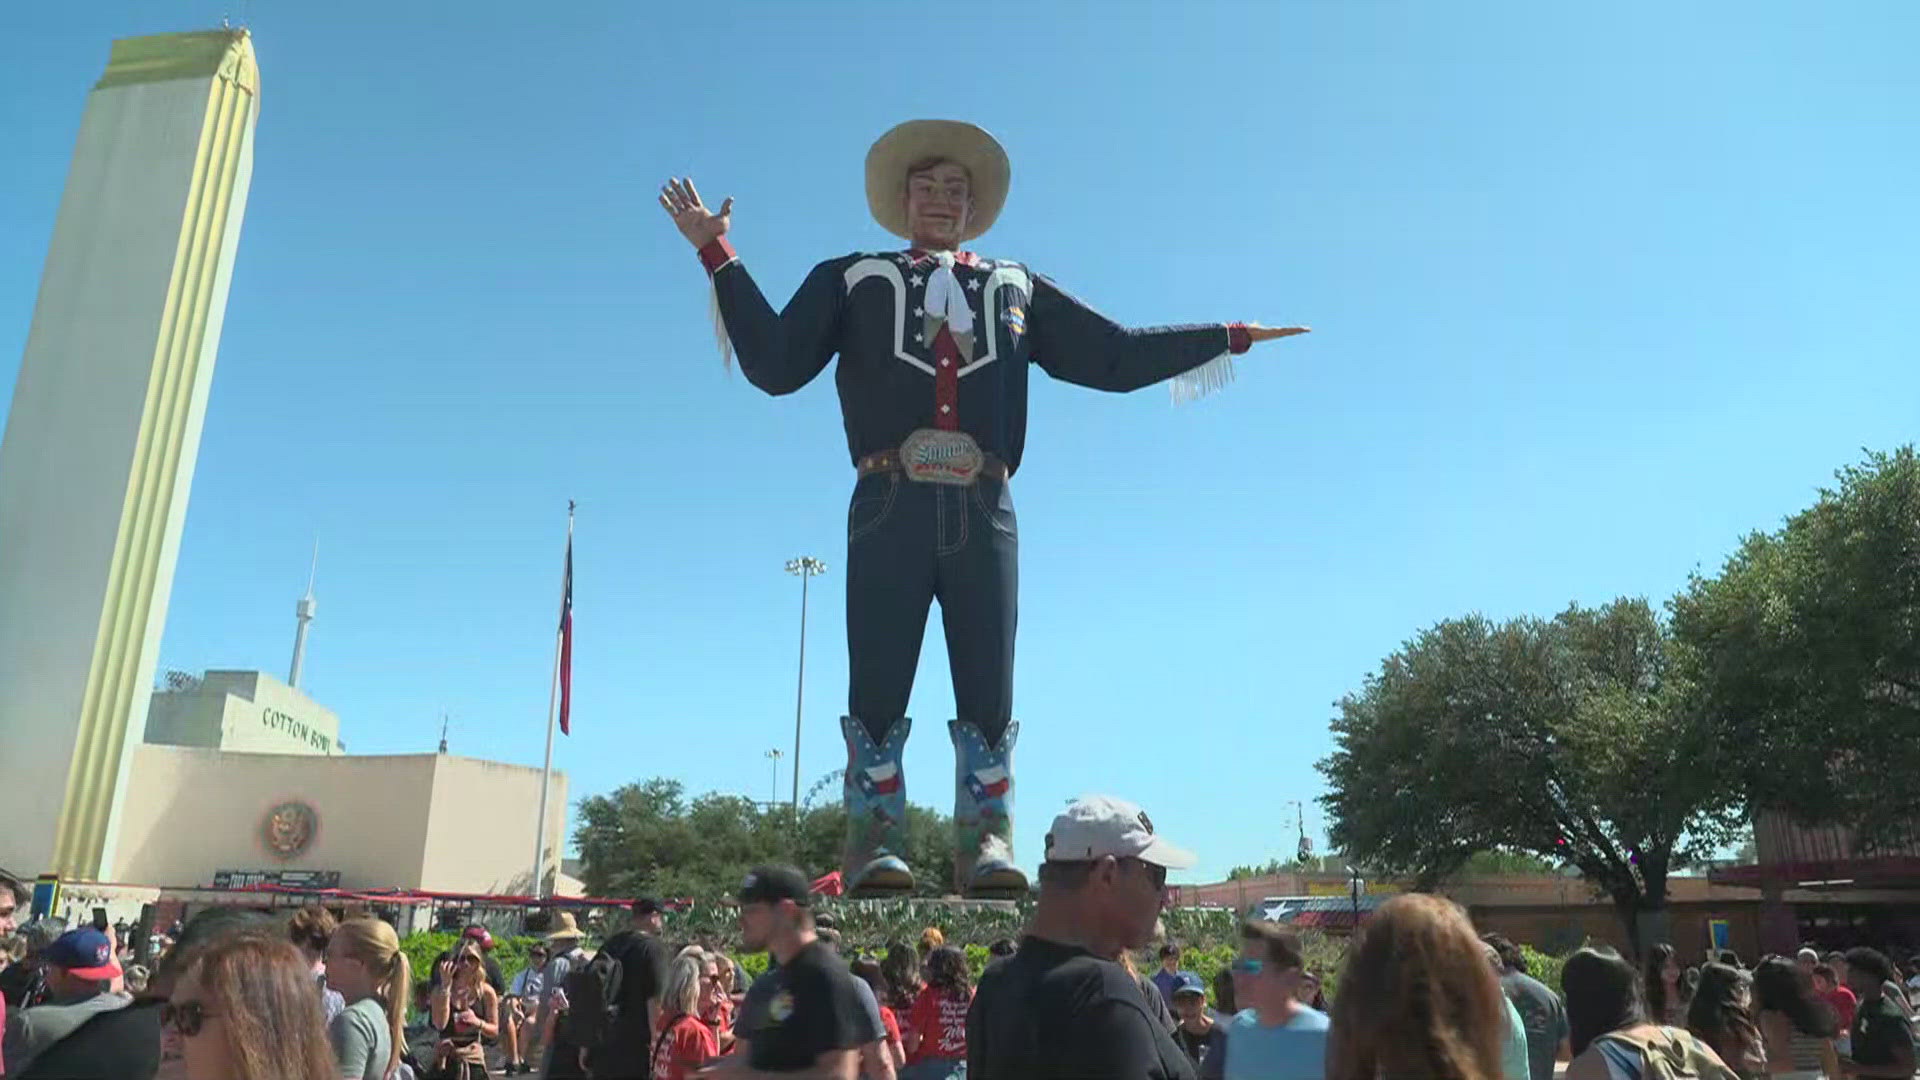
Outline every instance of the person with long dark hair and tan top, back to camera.
<path fill-rule="evenodd" d="M 1561 988 L 1567 992 L 1567 1042 L 1572 1049 L 1565 1080 L 1642 1080 L 1655 1059 L 1668 1067 L 1670 1076 L 1734 1080 L 1734 1070 L 1713 1047 L 1686 1030 L 1647 1019 L 1640 972 L 1620 953 L 1580 949 L 1567 957 Z"/>

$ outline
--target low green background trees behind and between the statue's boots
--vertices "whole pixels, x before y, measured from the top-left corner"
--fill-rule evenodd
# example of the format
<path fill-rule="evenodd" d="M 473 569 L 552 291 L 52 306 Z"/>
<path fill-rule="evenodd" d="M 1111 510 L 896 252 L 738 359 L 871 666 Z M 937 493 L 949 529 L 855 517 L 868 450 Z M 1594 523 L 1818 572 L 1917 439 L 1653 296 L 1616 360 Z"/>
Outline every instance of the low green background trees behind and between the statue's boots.
<path fill-rule="evenodd" d="M 662 896 L 714 899 L 760 863 L 793 863 L 808 874 L 839 867 L 847 811 L 801 807 L 795 828 L 789 805 L 739 796 L 687 799 L 680 780 L 624 784 L 580 801 L 574 844 L 582 880 L 593 896 Z M 906 851 L 922 896 L 941 896 L 952 880 L 952 819 L 906 809 Z"/>

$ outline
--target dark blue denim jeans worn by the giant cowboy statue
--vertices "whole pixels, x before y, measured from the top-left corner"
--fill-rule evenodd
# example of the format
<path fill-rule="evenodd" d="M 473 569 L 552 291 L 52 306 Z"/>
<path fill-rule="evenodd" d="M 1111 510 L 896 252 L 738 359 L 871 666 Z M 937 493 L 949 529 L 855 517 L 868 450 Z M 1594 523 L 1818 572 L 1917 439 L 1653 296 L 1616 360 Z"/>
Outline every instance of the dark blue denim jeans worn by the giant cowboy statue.
<path fill-rule="evenodd" d="M 1018 584 L 1004 480 L 860 477 L 847 507 L 847 713 L 876 742 L 906 715 L 927 609 L 939 600 L 954 711 L 996 742 L 1014 719 Z"/>

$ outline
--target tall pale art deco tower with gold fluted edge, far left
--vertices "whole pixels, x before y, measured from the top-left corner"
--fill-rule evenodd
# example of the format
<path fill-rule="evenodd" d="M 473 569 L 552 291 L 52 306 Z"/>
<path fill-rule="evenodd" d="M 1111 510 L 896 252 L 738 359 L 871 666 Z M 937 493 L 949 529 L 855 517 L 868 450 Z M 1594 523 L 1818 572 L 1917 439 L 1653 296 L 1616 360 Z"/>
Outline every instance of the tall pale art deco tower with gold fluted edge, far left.
<path fill-rule="evenodd" d="M 0 865 L 109 878 L 253 175 L 246 31 L 113 42 L 0 440 Z"/>

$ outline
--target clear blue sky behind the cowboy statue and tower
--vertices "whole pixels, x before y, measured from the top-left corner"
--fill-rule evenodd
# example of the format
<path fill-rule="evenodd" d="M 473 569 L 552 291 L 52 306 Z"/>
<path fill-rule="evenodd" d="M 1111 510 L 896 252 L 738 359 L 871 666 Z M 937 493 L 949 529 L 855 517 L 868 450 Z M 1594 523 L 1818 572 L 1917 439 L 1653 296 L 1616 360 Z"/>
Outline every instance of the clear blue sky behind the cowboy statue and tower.
<path fill-rule="evenodd" d="M 576 798 L 766 798 L 797 553 L 829 563 L 803 786 L 841 763 L 831 380 L 722 371 L 653 192 L 735 196 L 783 300 L 891 244 L 860 160 L 908 117 L 1006 142 L 981 252 L 1125 323 L 1315 327 L 1196 405 L 1035 382 L 1029 861 L 1081 792 L 1146 805 L 1188 880 L 1284 855 L 1332 701 L 1409 634 L 1665 598 L 1914 434 L 1910 4 L 230 12 L 263 111 L 161 665 L 284 671 L 319 538 L 307 688 L 355 751 L 432 749 L 447 711 L 457 753 L 540 763 L 574 498 Z M 0 12 L 0 384 L 108 42 L 219 17 Z M 916 801 L 950 798 L 950 709 L 935 615 Z"/>

